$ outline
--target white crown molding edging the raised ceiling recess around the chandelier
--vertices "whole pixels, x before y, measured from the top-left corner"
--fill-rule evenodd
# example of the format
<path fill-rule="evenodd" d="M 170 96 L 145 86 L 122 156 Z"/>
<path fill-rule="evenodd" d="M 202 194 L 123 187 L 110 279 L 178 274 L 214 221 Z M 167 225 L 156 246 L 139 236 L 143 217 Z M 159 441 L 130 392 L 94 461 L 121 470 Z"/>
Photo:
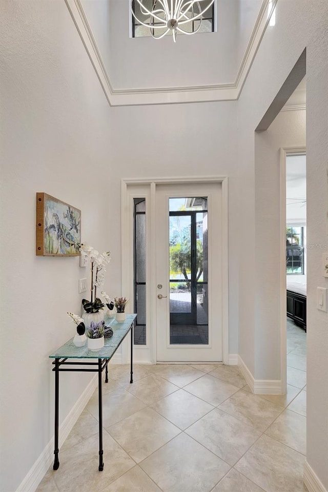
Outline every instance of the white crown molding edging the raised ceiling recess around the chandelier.
<path fill-rule="evenodd" d="M 252 66 L 265 29 L 270 22 L 267 16 L 269 0 L 262 0 L 248 46 L 245 50 L 236 80 L 227 84 L 212 84 L 187 87 L 162 87 L 154 89 L 114 88 L 101 58 L 96 40 L 90 28 L 80 0 L 65 0 L 74 25 L 88 53 L 100 85 L 110 106 L 135 106 L 153 104 L 201 103 L 237 100 Z M 277 0 L 273 0 L 273 12 Z"/>

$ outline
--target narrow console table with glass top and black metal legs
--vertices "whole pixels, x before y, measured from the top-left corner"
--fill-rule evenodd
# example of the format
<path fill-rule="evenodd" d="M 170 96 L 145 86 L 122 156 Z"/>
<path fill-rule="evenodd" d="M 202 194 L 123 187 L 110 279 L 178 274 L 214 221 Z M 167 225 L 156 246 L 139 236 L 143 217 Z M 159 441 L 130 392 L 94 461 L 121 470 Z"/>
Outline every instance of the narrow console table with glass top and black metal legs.
<path fill-rule="evenodd" d="M 53 469 L 59 468 L 58 459 L 58 432 L 59 432 L 59 372 L 92 372 L 98 373 L 98 398 L 99 398 L 99 471 L 104 469 L 104 450 L 103 450 L 103 391 L 102 391 L 102 377 L 104 369 L 106 370 L 105 383 L 108 383 L 108 363 L 115 354 L 117 348 L 122 341 L 131 331 L 131 369 L 130 369 L 130 383 L 133 383 L 132 379 L 132 358 L 133 358 L 133 323 L 136 318 L 136 314 L 127 314 L 127 319 L 124 323 L 117 323 L 115 319 L 106 323 L 107 327 L 111 327 L 113 330 L 113 336 L 111 338 L 105 338 L 105 346 L 97 351 L 91 351 L 88 345 L 83 347 L 76 347 L 73 343 L 73 338 L 66 342 L 63 346 L 49 356 L 53 361 L 53 370 L 55 373 L 55 449 L 54 449 L 54 464 Z M 75 359 L 73 361 L 67 361 L 67 359 Z M 80 359 L 96 359 L 96 361 L 85 362 Z M 87 366 L 87 367 L 86 367 Z M 91 367 L 94 366 L 94 367 Z"/>

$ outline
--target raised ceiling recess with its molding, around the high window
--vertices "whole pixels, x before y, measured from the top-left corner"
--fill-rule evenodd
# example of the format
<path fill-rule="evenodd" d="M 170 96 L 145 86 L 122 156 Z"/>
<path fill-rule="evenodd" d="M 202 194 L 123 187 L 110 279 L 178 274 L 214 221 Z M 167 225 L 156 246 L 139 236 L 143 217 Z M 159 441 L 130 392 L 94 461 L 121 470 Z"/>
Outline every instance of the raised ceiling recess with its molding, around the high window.
<path fill-rule="evenodd" d="M 66 4 L 114 106 L 237 99 L 270 20 L 269 0 L 217 0 L 217 32 L 174 44 L 131 38 L 129 0 Z"/>

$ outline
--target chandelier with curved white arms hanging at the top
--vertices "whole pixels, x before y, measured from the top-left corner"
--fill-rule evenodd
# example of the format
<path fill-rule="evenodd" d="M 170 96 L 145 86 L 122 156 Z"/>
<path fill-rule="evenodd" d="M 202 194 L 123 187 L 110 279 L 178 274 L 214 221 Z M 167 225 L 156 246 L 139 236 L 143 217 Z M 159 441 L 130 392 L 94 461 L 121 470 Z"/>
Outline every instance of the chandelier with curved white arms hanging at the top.
<path fill-rule="evenodd" d="M 214 0 L 130 0 L 130 9 L 137 22 L 148 27 L 155 39 L 172 31 L 175 43 L 177 32 L 199 31 L 202 16 L 213 3 Z"/>

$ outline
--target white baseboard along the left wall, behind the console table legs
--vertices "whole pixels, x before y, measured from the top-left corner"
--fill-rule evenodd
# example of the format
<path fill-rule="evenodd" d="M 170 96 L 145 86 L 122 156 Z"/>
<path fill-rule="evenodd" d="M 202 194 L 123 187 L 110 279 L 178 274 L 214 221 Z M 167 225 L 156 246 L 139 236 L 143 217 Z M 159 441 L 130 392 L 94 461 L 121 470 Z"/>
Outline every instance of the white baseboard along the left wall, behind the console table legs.
<path fill-rule="evenodd" d="M 71 432 L 75 422 L 81 415 L 84 407 L 90 400 L 95 388 L 98 384 L 98 377 L 94 376 L 85 391 L 81 394 L 70 413 L 67 415 L 66 419 L 59 426 L 59 448 L 64 443 L 65 439 Z M 20 483 L 16 492 L 34 492 L 43 479 L 51 463 L 54 460 L 53 455 L 54 450 L 54 438 L 50 440 L 43 452 L 40 454 L 38 459 L 35 461 L 34 465 Z"/>

